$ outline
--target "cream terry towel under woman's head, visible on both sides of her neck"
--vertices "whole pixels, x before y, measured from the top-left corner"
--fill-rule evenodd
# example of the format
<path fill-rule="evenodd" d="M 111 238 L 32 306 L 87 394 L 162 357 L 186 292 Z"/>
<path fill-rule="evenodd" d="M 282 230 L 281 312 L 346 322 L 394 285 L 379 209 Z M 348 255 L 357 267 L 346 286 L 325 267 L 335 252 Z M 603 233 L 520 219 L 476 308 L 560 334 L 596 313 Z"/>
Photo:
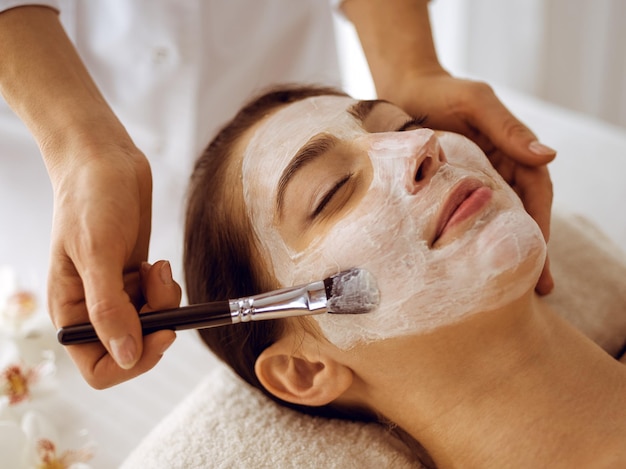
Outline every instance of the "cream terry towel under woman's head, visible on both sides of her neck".
<path fill-rule="evenodd" d="M 556 281 L 546 299 L 615 353 L 626 338 L 626 258 L 590 223 L 556 216 Z M 208 353 L 208 352 L 207 352 Z M 421 467 L 377 424 L 328 420 L 281 407 L 220 365 L 127 458 L 131 468 Z"/>

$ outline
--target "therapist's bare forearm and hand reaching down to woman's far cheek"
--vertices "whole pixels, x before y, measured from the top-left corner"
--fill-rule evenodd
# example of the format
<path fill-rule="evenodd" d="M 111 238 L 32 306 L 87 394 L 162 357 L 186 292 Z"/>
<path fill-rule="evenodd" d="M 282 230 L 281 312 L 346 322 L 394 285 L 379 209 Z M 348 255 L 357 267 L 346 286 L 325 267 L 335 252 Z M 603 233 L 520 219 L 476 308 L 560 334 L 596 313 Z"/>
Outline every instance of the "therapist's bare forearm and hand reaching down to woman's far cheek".
<path fill-rule="evenodd" d="M 516 189 L 546 240 L 550 234 L 552 185 L 545 165 L 556 155 L 541 145 L 484 83 L 451 77 L 439 64 L 428 0 L 344 0 L 341 8 L 354 24 L 372 72 L 378 97 L 428 126 L 461 133 L 487 153 Z M 553 288 L 549 264 L 537 292 Z"/>

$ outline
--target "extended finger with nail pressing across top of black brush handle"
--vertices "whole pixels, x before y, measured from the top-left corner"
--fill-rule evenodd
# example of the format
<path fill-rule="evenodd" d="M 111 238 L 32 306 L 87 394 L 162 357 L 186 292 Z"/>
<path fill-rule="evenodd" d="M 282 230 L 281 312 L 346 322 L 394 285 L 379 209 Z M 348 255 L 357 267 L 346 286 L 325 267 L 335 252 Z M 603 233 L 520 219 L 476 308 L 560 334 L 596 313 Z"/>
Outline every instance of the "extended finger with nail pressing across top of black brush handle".
<path fill-rule="evenodd" d="M 108 258 L 93 259 L 79 274 L 98 338 L 121 368 L 132 368 L 141 357 L 143 340 L 137 310 L 124 286 L 138 288 L 139 273 L 123 274 L 123 266 Z"/>

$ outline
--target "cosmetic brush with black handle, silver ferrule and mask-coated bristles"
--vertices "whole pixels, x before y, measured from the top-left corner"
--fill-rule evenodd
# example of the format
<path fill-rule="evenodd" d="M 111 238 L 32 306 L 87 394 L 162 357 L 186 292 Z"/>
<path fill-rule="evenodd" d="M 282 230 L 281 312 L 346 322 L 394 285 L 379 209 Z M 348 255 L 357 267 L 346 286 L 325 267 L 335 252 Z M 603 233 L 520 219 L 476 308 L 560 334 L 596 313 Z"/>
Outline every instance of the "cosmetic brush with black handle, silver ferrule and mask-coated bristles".
<path fill-rule="evenodd" d="M 313 314 L 363 314 L 378 306 L 376 280 L 367 270 L 350 269 L 305 285 L 234 300 L 215 301 L 140 314 L 143 335 L 163 329 L 184 330 L 226 326 Z M 97 342 L 91 323 L 62 327 L 63 345 Z"/>

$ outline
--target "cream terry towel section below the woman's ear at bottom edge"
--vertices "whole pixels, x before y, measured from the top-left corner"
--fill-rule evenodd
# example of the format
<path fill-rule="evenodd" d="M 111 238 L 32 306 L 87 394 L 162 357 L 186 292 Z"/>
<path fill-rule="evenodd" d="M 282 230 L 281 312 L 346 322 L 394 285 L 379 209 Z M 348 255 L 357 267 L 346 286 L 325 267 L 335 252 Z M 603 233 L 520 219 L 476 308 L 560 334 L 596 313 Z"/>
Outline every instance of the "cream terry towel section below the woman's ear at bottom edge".
<path fill-rule="evenodd" d="M 122 465 L 124 469 L 265 467 L 420 465 L 382 426 L 287 409 L 225 365 L 205 378 Z"/>

